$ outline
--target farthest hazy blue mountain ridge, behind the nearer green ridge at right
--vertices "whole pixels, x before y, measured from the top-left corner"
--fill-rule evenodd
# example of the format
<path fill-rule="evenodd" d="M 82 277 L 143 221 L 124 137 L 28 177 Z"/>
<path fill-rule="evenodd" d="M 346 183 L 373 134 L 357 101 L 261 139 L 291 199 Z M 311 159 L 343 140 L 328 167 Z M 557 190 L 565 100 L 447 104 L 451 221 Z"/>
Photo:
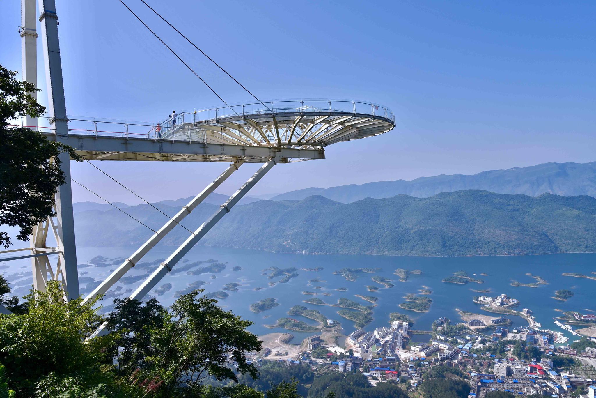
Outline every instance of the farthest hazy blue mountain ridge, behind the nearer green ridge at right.
<path fill-rule="evenodd" d="M 496 193 L 538 196 L 542 193 L 596 197 L 596 162 L 591 163 L 543 163 L 529 167 L 507 170 L 483 171 L 474 175 L 436 175 L 420 177 L 412 181 L 378 181 L 362 185 L 344 185 L 331 188 L 307 188 L 281 195 L 271 200 L 301 200 L 321 195 L 337 202 L 350 203 L 365 198 L 390 198 L 410 195 L 428 198 L 441 192 L 465 189 L 482 189 Z"/>

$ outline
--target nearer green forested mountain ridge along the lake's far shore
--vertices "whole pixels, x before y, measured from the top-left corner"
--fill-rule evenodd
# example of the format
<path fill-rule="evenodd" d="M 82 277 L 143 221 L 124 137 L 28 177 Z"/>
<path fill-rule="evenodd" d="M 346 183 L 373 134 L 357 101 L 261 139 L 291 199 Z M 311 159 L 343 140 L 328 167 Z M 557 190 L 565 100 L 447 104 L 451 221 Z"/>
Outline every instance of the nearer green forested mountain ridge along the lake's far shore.
<path fill-rule="evenodd" d="M 156 206 L 169 215 L 179 210 L 179 206 L 163 203 Z M 202 203 L 182 224 L 194 230 L 217 208 Z M 145 204 L 129 206 L 126 211 L 153 229 L 167 221 Z M 77 212 L 75 227 L 77 243 L 82 246 L 138 246 L 152 234 L 116 209 Z M 178 245 L 188 235 L 176 227 L 163 243 Z M 236 206 L 201 243 L 337 254 L 596 252 L 596 199 L 461 190 L 430 198 L 398 195 L 352 203 L 322 196 L 260 200 Z"/>

